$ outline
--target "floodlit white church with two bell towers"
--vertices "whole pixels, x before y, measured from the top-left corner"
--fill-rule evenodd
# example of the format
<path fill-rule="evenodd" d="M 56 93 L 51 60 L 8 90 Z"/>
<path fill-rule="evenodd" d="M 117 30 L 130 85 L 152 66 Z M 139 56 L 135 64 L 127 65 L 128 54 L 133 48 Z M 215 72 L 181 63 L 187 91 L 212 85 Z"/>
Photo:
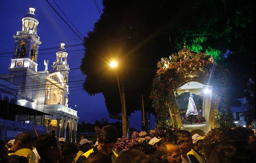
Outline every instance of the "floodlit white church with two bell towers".
<path fill-rule="evenodd" d="M 38 71 L 37 55 L 41 41 L 37 35 L 39 22 L 34 11 L 32 7 L 29 9 L 22 18 L 22 29 L 14 35 L 15 53 L 7 80 L 20 89 L 17 105 L 53 115 L 45 116 L 46 130 L 65 138 L 68 132 L 69 140 L 74 137 L 74 142 L 79 117 L 77 111 L 68 107 L 68 53 L 65 44 L 60 44 L 51 68 L 48 67 L 49 62 L 44 61 L 44 71 Z M 37 120 L 31 123 L 37 123 Z M 68 125 L 69 131 L 66 131 Z"/>

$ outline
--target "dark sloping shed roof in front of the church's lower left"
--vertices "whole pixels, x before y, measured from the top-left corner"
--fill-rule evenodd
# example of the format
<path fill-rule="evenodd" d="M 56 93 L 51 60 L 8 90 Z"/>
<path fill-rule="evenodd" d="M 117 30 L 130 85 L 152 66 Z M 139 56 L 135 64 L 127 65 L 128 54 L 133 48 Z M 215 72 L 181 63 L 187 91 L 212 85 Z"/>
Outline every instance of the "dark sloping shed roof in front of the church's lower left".
<path fill-rule="evenodd" d="M 9 112 L 9 114 L 14 114 L 14 115 L 30 115 L 30 116 L 43 116 L 43 115 L 48 115 L 48 116 L 53 116 L 52 114 L 44 113 L 35 109 L 31 109 L 28 107 L 20 106 L 14 103 L 10 103 L 7 101 L 0 100 L 0 108 L 2 113 L 4 112 Z"/>

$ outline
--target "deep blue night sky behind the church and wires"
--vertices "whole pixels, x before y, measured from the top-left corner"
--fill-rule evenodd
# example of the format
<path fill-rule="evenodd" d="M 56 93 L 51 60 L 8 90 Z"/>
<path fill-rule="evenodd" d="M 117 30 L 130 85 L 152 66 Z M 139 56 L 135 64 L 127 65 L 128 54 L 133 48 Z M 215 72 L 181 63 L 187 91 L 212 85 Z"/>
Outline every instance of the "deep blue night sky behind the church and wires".
<path fill-rule="evenodd" d="M 50 4 L 57 10 L 58 7 L 54 4 L 52 0 L 49 0 Z M 100 18 L 96 6 L 92 0 L 55 0 L 59 7 L 64 11 L 66 16 L 73 22 L 76 28 L 80 31 L 83 36 L 86 36 L 88 31 L 91 31 L 94 27 L 94 23 Z M 103 9 L 100 0 L 97 0 L 100 9 Z M 14 52 L 14 38 L 13 35 L 16 31 L 21 30 L 23 16 L 28 12 L 29 7 L 33 4 L 33 0 L 2 0 L 0 1 L 0 53 L 3 52 Z M 53 50 L 40 49 L 49 47 L 58 47 L 60 43 L 63 42 L 67 45 L 81 44 L 82 41 L 78 39 L 71 29 L 62 21 L 62 19 L 53 11 L 53 9 L 44 0 L 34 0 L 33 7 L 36 9 L 35 15 L 38 17 L 39 25 L 37 28 L 37 35 L 40 37 L 42 42 L 39 45 L 38 52 L 38 71 L 44 70 L 43 61 L 49 60 L 50 65 L 55 61 L 55 52 L 58 48 Z M 62 17 L 68 21 L 60 10 L 57 10 Z M 69 23 L 71 26 L 71 23 Z M 73 27 L 73 29 L 75 29 Z M 68 41 L 67 41 L 68 40 Z M 67 47 L 69 50 L 81 50 L 83 46 Z M 43 54 L 42 53 L 50 53 Z M 68 64 L 69 67 L 78 68 L 81 64 L 81 58 L 84 56 L 84 51 L 74 51 L 68 52 Z M 9 74 L 8 68 L 10 65 L 10 55 L 9 57 L 0 57 L 0 74 Z M 1 55 L 0 55 L 1 56 Z M 81 75 L 79 69 L 71 70 L 69 76 Z M 69 79 L 69 81 L 85 79 L 85 76 L 76 79 Z M 75 85 L 79 86 L 79 85 Z M 105 106 L 104 97 L 102 94 L 89 96 L 81 88 L 70 88 L 69 95 L 69 107 L 78 110 L 78 116 L 80 117 L 79 122 L 84 120 L 86 123 L 94 123 L 95 120 L 100 120 L 100 118 L 108 116 L 108 112 Z M 119 99 L 117 99 L 119 100 Z M 151 117 L 154 118 L 154 117 Z M 108 118 L 109 122 L 116 122 L 117 120 Z M 152 119 L 151 125 L 154 123 Z M 134 127 L 137 130 L 141 129 L 140 125 L 140 112 L 135 112 L 130 117 L 130 127 Z"/>

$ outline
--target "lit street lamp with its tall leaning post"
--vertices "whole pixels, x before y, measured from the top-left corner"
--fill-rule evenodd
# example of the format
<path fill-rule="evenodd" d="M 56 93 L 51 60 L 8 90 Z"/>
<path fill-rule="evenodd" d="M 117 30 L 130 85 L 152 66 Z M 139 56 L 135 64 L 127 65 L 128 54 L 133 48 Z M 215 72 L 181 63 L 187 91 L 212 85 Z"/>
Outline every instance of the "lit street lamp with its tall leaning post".
<path fill-rule="evenodd" d="M 117 63 L 113 61 L 113 62 L 110 63 L 110 66 L 112 68 L 115 68 L 115 67 L 117 67 Z M 117 84 L 118 84 L 119 95 L 120 95 L 121 106 L 122 106 L 122 130 L 123 130 L 123 136 L 127 136 L 127 116 L 126 116 L 126 101 L 125 101 L 124 86 L 121 86 L 121 90 L 120 90 L 117 70 L 116 70 L 116 75 L 117 75 Z"/>

